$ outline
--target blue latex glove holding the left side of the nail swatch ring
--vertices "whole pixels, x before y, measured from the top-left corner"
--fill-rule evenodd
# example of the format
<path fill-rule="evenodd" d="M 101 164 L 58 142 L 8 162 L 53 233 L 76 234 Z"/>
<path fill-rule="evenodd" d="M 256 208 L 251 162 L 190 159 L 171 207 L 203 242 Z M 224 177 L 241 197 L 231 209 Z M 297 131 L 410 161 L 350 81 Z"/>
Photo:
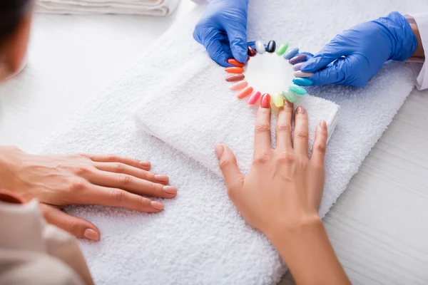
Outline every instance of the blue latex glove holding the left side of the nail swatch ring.
<path fill-rule="evenodd" d="M 247 62 L 247 12 L 248 0 L 211 0 L 196 25 L 193 38 L 220 66 Z"/>

